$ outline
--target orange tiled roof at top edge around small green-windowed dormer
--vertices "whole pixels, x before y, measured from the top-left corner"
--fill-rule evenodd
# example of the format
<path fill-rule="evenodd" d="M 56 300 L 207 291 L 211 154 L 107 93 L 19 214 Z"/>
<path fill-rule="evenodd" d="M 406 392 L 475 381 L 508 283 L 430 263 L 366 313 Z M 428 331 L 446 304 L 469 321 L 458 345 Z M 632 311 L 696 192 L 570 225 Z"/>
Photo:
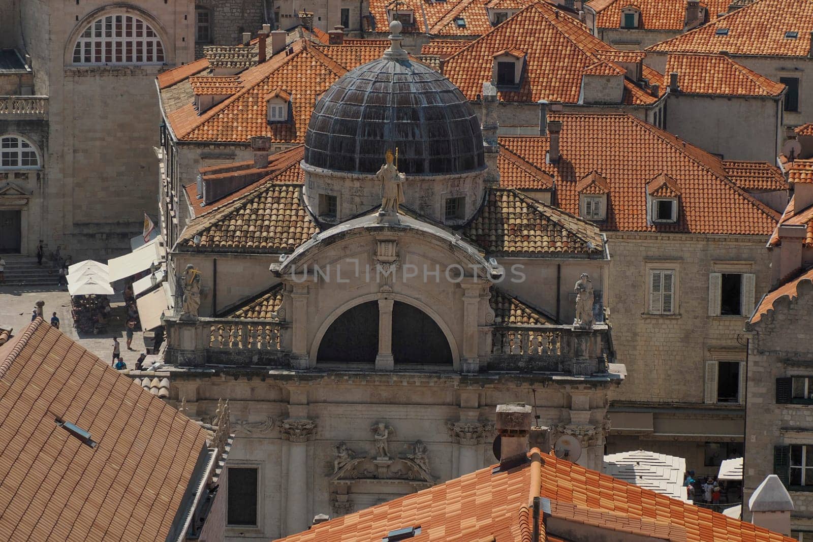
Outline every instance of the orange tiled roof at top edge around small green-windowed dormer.
<path fill-rule="evenodd" d="M 630 5 L 629 0 L 593 0 L 587 6 L 596 11 L 596 28 L 620 28 L 621 10 Z M 705 0 L 702 5 L 708 10 L 708 20 L 728 11 L 731 0 Z M 634 5 L 641 10 L 639 28 L 646 30 L 683 31 L 686 19 L 685 0 L 635 0 Z"/>

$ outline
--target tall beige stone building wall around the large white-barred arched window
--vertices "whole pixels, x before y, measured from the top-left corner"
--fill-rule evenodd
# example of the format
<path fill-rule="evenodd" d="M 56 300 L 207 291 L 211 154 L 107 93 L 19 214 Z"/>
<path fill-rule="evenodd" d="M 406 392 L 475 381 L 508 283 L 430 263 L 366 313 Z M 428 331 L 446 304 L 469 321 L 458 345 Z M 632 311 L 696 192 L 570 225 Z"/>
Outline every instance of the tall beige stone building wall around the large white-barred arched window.
<path fill-rule="evenodd" d="M 75 260 L 120 253 L 154 209 L 154 77 L 193 59 L 193 2 L 11 4 L 19 15 L 4 39 L 49 97 L 41 200 L 26 211 L 20 250 L 32 254 L 43 239 Z"/>

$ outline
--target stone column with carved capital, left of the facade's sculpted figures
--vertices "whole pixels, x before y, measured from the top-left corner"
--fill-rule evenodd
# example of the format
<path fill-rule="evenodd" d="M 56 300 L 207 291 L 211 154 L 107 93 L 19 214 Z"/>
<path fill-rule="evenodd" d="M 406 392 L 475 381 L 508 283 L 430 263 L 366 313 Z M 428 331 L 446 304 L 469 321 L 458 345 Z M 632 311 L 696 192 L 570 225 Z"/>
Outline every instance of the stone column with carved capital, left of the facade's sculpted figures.
<path fill-rule="evenodd" d="M 285 495 L 285 535 L 305 531 L 311 524 L 307 509 L 307 441 L 314 435 L 311 419 L 286 419 L 280 430 L 288 440 L 288 493 Z"/>

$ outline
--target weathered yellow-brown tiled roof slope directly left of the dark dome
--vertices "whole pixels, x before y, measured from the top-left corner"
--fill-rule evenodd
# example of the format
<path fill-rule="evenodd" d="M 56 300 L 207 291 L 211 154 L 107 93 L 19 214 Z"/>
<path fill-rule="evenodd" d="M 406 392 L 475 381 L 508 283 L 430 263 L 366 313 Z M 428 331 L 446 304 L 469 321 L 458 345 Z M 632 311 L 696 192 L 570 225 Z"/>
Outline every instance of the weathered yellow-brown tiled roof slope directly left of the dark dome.
<path fill-rule="evenodd" d="M 253 191 L 193 219 L 177 242 L 185 251 L 287 254 L 318 231 L 300 202 L 299 184 L 263 183 Z M 194 236 L 201 236 L 199 245 Z"/>

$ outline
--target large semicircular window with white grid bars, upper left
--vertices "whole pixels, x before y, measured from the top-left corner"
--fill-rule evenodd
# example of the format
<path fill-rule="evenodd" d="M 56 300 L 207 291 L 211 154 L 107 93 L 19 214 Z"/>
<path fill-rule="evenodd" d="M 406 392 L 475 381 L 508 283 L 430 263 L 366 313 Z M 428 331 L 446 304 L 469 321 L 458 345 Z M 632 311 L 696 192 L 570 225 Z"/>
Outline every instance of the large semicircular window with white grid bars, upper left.
<path fill-rule="evenodd" d="M 73 48 L 73 63 L 161 64 L 163 44 L 153 28 L 133 15 L 105 15 L 85 28 Z"/>

